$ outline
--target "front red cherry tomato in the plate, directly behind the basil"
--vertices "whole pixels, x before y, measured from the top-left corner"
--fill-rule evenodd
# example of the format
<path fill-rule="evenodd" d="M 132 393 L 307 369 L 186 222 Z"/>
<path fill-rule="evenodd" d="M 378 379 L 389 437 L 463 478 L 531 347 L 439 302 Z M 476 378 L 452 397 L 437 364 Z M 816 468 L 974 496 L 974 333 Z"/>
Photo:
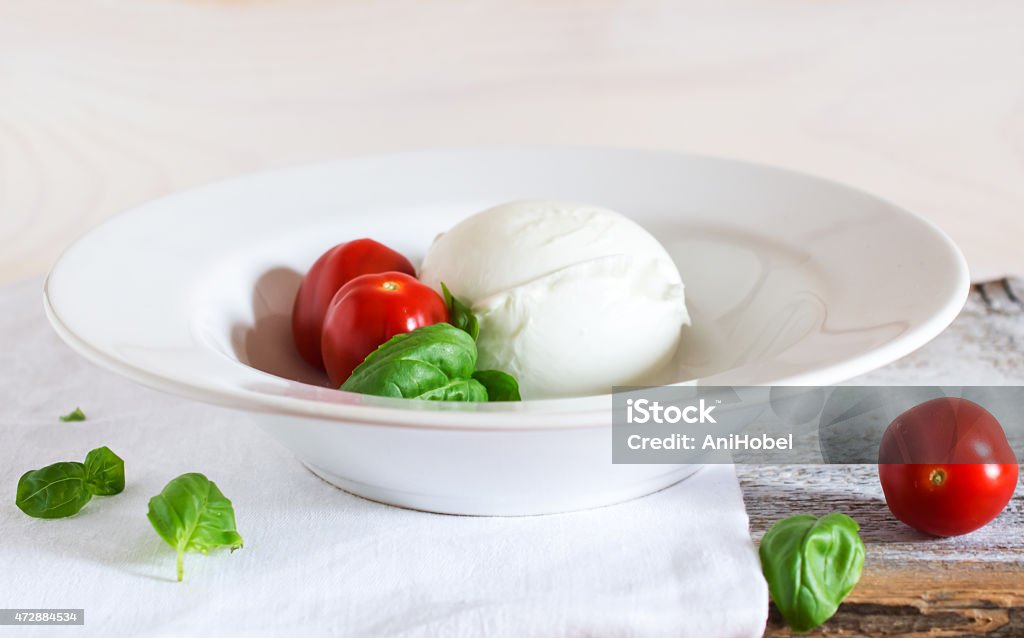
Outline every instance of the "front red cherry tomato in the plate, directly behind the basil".
<path fill-rule="evenodd" d="M 444 300 L 402 272 L 364 274 L 334 296 L 321 339 L 327 375 L 344 383 L 368 354 L 391 337 L 449 321 Z"/>

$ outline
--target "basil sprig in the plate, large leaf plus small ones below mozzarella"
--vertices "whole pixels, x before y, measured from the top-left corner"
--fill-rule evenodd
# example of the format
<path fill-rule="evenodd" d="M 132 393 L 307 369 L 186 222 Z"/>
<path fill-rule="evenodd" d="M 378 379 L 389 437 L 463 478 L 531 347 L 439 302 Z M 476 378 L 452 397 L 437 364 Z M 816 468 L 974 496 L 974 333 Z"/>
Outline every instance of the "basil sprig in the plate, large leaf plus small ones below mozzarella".
<path fill-rule="evenodd" d="M 371 352 L 341 389 L 425 400 L 519 400 L 514 377 L 476 371 L 476 358 L 470 333 L 451 324 L 424 326 L 395 335 Z"/>

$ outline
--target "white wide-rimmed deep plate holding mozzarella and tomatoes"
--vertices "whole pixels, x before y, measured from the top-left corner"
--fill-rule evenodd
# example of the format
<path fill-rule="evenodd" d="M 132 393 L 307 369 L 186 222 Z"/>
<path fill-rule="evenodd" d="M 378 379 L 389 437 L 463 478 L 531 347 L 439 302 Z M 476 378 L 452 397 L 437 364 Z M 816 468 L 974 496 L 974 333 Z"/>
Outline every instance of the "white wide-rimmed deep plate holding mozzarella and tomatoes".
<path fill-rule="evenodd" d="M 618 210 L 676 259 L 693 327 L 662 381 L 829 384 L 910 352 L 968 292 L 956 247 L 892 204 L 729 160 L 607 148 L 371 156 L 232 179 L 95 228 L 50 272 L 60 336 L 163 390 L 240 408 L 328 480 L 434 511 L 520 514 L 612 503 L 692 468 L 609 464 L 608 396 L 455 405 L 340 392 L 289 332 L 301 273 L 372 237 L 418 260 L 495 204 Z"/>

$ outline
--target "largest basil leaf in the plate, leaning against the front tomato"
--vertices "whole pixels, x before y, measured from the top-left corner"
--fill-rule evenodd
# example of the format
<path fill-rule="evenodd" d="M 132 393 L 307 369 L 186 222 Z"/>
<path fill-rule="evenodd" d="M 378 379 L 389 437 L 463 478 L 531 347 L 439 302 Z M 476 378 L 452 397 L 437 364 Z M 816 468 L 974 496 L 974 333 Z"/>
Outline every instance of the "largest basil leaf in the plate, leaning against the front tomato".
<path fill-rule="evenodd" d="M 450 324 L 434 324 L 392 337 L 352 371 L 341 389 L 418 398 L 454 380 L 469 379 L 475 367 L 473 338 Z"/>

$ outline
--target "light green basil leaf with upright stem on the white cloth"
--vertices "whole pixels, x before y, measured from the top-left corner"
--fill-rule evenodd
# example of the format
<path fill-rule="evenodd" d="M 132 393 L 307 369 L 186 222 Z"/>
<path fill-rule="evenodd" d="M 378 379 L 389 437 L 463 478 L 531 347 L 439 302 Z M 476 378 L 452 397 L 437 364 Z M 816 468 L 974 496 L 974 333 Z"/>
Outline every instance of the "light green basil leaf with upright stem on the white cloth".
<path fill-rule="evenodd" d="M 146 518 L 160 538 L 178 552 L 178 581 L 185 552 L 206 554 L 221 547 L 242 547 L 234 528 L 234 508 L 217 484 L 198 473 L 182 474 L 150 499 Z"/>

